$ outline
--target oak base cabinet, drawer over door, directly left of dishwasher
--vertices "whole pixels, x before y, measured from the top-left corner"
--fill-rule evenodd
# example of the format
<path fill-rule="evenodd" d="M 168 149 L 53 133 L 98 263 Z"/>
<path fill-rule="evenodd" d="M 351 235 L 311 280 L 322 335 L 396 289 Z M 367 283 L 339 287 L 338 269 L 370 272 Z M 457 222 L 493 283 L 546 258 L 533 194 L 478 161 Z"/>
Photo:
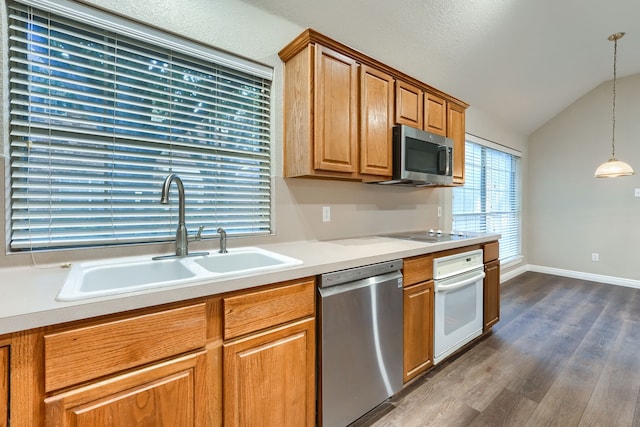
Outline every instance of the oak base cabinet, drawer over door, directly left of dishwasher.
<path fill-rule="evenodd" d="M 315 281 L 223 298 L 224 425 L 315 425 Z"/>

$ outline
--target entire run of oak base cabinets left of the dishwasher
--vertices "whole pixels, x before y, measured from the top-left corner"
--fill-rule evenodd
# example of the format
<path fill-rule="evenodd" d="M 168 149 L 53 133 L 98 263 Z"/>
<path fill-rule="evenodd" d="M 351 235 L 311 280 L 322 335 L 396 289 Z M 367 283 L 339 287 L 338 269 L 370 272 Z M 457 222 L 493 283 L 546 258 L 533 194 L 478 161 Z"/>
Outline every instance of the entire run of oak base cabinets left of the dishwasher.
<path fill-rule="evenodd" d="M 0 338 L 0 427 L 315 424 L 313 277 Z"/>

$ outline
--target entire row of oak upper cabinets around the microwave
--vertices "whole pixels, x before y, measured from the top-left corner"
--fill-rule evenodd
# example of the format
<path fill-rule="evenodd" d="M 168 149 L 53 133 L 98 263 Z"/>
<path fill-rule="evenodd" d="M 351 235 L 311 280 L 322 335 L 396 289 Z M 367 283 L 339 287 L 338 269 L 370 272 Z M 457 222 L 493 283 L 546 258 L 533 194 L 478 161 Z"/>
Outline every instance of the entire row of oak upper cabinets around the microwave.
<path fill-rule="evenodd" d="M 285 63 L 285 177 L 389 178 L 396 123 L 446 136 L 461 130 L 464 139 L 466 103 L 314 30 L 279 55 Z M 448 123 L 449 105 L 462 121 Z"/>

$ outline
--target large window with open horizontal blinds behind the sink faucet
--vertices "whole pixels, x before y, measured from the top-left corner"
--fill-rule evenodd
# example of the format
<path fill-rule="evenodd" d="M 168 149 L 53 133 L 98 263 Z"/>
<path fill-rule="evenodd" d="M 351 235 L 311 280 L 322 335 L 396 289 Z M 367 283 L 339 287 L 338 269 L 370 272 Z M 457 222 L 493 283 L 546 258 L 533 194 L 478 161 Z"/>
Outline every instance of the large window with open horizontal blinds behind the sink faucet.
<path fill-rule="evenodd" d="M 11 250 L 271 232 L 272 69 L 64 0 L 8 2 Z"/>

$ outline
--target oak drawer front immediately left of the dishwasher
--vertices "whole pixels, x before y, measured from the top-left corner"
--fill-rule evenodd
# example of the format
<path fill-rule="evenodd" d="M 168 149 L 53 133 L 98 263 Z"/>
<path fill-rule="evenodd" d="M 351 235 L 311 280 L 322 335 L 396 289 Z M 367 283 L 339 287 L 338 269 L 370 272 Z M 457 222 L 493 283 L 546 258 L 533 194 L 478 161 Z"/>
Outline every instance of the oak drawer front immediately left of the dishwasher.
<path fill-rule="evenodd" d="M 313 316 L 315 288 L 314 278 L 308 278 L 223 298 L 224 339 Z"/>

